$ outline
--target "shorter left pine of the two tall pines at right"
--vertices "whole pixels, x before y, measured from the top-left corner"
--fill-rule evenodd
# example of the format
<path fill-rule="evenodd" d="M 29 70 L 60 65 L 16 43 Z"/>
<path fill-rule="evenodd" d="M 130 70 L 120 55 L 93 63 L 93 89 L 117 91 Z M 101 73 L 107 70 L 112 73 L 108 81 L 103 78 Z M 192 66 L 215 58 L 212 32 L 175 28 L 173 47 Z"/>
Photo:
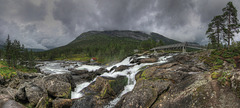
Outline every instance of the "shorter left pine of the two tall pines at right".
<path fill-rule="evenodd" d="M 223 18 L 221 15 L 215 16 L 211 23 L 208 25 L 208 30 L 206 34 L 208 38 L 211 40 L 211 44 L 213 47 L 219 47 L 221 36 L 223 36 L 223 31 L 225 29 L 225 25 L 223 22 Z"/>

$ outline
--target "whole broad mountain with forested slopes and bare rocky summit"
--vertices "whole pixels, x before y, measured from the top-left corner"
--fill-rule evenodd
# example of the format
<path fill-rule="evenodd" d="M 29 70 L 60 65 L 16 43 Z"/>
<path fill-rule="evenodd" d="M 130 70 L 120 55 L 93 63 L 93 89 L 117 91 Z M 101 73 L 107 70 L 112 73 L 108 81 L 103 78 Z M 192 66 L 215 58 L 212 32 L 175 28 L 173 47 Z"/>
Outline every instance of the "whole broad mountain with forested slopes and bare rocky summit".
<path fill-rule="evenodd" d="M 40 59 L 48 60 L 72 58 L 70 60 L 81 61 L 83 58 L 88 60 L 90 57 L 97 57 L 101 62 L 108 62 L 131 55 L 134 49 L 156 47 L 161 42 L 179 43 L 157 33 L 147 34 L 129 30 L 89 31 L 82 33 L 65 46 L 38 53 L 38 55 Z"/>

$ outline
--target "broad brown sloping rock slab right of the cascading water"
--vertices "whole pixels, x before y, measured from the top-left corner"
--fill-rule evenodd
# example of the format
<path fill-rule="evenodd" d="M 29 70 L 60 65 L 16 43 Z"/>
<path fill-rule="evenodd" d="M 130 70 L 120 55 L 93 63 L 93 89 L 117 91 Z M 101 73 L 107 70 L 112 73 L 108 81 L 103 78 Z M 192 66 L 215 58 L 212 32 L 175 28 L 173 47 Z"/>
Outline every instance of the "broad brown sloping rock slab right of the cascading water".
<path fill-rule="evenodd" d="M 136 75 L 137 83 L 116 108 L 238 108 L 240 74 L 231 87 L 212 79 L 195 53 L 180 54 L 166 64 L 149 66 Z"/>

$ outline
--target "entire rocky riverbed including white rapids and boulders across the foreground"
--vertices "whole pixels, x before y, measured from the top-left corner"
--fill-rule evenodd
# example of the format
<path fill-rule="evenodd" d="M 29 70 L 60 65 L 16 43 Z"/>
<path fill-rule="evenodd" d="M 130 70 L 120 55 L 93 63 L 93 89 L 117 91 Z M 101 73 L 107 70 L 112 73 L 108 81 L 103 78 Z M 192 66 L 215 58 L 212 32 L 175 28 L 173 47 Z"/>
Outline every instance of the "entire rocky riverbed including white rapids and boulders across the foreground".
<path fill-rule="evenodd" d="M 238 108 L 240 71 L 221 84 L 208 52 L 135 55 L 112 66 L 42 62 L 39 73 L 1 81 L 0 108 Z"/>

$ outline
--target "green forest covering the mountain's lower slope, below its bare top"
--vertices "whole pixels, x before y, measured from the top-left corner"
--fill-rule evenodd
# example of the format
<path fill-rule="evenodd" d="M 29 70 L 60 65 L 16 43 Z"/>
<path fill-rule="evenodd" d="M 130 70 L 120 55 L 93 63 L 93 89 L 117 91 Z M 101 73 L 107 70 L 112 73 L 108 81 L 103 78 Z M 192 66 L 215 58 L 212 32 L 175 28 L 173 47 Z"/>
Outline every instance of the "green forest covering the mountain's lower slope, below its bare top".
<path fill-rule="evenodd" d="M 85 57 L 96 57 L 102 63 L 121 60 L 127 56 L 134 54 L 134 50 L 146 51 L 164 43 L 148 39 L 144 41 L 131 38 L 118 38 L 97 36 L 90 40 L 84 40 L 79 43 L 69 44 L 65 47 L 59 47 L 53 50 L 36 53 L 40 60 L 60 60 L 72 58 L 75 54 Z M 101 37 L 101 38 L 100 38 Z"/>

